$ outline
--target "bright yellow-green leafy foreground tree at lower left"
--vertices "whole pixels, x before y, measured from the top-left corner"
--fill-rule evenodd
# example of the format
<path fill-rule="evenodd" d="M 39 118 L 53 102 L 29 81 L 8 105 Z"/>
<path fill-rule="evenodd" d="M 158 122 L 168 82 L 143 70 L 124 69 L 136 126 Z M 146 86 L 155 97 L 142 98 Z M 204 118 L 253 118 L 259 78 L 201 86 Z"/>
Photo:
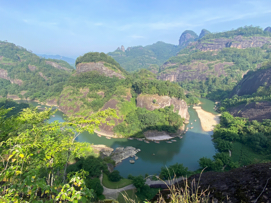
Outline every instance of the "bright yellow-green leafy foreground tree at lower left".
<path fill-rule="evenodd" d="M 93 133 L 101 123 L 110 125 L 114 109 L 95 114 L 68 116 L 65 122 L 49 122 L 55 111 L 24 109 L 18 116 L 5 118 L 11 111 L 0 109 L 0 199 L 6 202 L 81 201 L 93 197 L 84 178 L 74 175 L 65 181 L 70 155 L 83 157 L 92 148 L 76 142 L 80 133 Z"/>

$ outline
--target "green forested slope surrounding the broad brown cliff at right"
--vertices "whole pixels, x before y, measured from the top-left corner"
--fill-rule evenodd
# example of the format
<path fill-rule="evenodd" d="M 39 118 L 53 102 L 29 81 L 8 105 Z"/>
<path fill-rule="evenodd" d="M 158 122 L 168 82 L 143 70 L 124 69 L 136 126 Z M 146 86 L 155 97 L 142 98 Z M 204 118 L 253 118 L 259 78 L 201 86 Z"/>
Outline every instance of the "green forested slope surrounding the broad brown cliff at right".
<path fill-rule="evenodd" d="M 256 70 L 257 65 L 266 63 L 271 59 L 271 49 L 267 46 L 262 48 L 223 48 L 214 54 L 212 51 L 190 50 L 185 48 L 181 50 L 176 57 L 169 58 L 168 62 L 172 64 L 188 65 L 191 61 L 208 63 L 210 71 L 214 73 L 214 65 L 223 62 L 233 62 L 232 66 L 224 66 L 223 70 L 227 74 L 225 77 L 212 76 L 206 81 L 197 79 L 192 81 L 179 81 L 181 87 L 193 92 L 196 96 L 208 97 L 211 99 L 225 99 L 230 94 L 234 86 L 241 81 L 244 73 L 249 70 Z M 160 73 L 174 70 L 176 66 L 164 66 L 160 68 Z M 171 68 L 168 70 L 167 68 Z"/>

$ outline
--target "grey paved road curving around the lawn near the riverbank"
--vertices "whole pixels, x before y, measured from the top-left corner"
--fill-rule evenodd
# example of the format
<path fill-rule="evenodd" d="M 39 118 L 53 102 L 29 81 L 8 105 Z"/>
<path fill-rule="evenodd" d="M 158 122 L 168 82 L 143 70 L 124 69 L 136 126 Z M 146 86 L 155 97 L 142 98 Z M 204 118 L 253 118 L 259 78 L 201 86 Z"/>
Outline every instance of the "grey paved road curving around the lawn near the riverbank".
<path fill-rule="evenodd" d="M 184 179 L 186 179 L 186 178 L 184 178 Z M 161 181 L 161 180 L 152 181 L 151 179 L 147 178 L 146 184 L 147 185 L 154 185 L 154 184 L 165 184 L 166 183 L 167 185 L 171 185 L 173 183 L 176 183 L 176 182 L 179 182 L 182 180 L 183 180 L 182 177 L 174 179 L 174 180 L 167 180 L 167 181 Z M 102 185 L 102 175 L 100 176 L 100 181 L 101 181 L 101 185 Z M 103 186 L 103 188 L 104 188 L 103 195 L 105 196 L 106 199 L 117 200 L 118 194 L 120 194 L 120 192 L 130 190 L 130 189 L 135 189 L 135 186 L 133 184 L 131 184 L 131 185 L 127 185 L 123 188 L 118 188 L 118 189 L 110 189 L 110 188 L 106 188 L 105 186 Z"/>

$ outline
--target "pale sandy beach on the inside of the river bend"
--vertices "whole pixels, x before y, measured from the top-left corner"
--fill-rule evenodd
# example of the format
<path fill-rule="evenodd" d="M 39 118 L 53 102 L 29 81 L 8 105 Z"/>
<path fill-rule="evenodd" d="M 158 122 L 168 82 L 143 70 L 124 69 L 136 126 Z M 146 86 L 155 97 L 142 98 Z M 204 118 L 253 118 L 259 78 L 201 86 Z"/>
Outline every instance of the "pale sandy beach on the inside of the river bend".
<path fill-rule="evenodd" d="M 214 130 L 214 125 L 217 125 L 220 121 L 221 114 L 214 115 L 201 109 L 200 106 L 193 106 L 193 109 L 198 113 L 198 117 L 201 120 L 201 127 L 204 131 Z"/>

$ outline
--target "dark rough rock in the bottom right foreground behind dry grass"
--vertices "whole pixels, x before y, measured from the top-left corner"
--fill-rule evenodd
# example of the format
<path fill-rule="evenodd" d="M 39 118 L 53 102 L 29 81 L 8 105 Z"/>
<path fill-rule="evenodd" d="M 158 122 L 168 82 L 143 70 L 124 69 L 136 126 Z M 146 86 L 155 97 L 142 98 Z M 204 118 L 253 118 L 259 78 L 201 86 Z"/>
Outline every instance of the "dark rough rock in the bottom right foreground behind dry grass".
<path fill-rule="evenodd" d="M 271 174 L 271 163 L 259 163 L 242 168 L 232 169 L 227 172 L 206 172 L 202 174 L 192 175 L 187 178 L 188 186 L 193 187 L 199 185 L 200 191 L 207 192 L 208 198 L 214 202 L 271 202 L 271 181 L 267 180 Z M 180 181 L 176 185 L 177 188 L 184 188 L 184 181 Z M 155 185 L 150 185 L 155 187 Z M 195 187 L 196 187 L 195 186 Z M 161 186 L 156 186 L 157 188 Z M 192 188 L 193 188 L 192 187 Z M 160 195 L 166 202 L 170 201 L 170 190 L 165 187 Z M 190 190 L 190 189 L 189 189 Z M 262 193 L 262 191 L 264 191 Z M 191 192 L 191 191 L 190 191 Z M 191 194 L 191 193 L 190 193 Z M 259 198 L 258 198 L 259 197 Z M 156 195 L 151 202 L 156 202 Z M 212 201 L 210 201 L 212 202 Z"/>

